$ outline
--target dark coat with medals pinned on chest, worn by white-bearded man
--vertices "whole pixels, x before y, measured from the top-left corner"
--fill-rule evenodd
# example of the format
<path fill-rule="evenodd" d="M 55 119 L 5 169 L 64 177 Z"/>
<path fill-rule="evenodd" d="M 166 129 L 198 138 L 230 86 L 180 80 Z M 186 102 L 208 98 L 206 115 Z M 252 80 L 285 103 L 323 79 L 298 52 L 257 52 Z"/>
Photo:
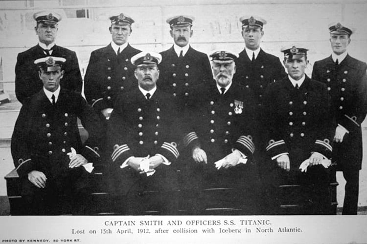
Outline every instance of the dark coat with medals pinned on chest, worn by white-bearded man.
<path fill-rule="evenodd" d="M 242 187 L 255 177 L 252 154 L 255 150 L 255 103 L 250 89 L 232 83 L 221 95 L 213 80 L 210 85 L 201 84 L 193 92 L 195 100 L 187 106 L 188 125 L 184 145 L 187 147 L 187 183 L 197 182 L 206 187 Z M 200 145 L 206 152 L 207 164 L 194 163 L 192 149 Z M 238 149 L 248 162 L 228 169 L 217 170 L 215 162 Z M 246 180 L 244 180 L 246 178 Z M 204 181 L 202 183 L 199 183 Z"/>

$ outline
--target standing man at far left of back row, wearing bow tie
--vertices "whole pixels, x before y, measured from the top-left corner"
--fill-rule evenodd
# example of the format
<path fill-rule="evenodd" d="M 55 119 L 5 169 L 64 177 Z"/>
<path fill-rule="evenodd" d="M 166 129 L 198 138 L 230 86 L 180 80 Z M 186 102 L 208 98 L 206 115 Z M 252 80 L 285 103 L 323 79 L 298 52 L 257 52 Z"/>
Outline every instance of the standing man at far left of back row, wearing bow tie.
<path fill-rule="evenodd" d="M 52 11 L 41 11 L 35 13 L 33 19 L 37 22 L 34 30 L 39 41 L 34 47 L 18 54 L 15 65 L 15 95 L 18 101 L 23 103 L 25 98 L 42 90 L 43 84 L 34 61 L 50 55 L 66 59 L 63 65 L 65 76 L 61 80 L 63 88 L 80 93 L 83 81 L 75 52 L 55 44 L 61 16 Z"/>

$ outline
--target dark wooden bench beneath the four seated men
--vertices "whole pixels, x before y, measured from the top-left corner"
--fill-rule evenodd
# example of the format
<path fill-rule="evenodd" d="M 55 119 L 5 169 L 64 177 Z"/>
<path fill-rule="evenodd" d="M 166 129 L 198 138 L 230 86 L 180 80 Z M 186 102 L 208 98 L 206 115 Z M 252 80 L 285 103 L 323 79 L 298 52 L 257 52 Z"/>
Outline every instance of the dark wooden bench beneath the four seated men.
<path fill-rule="evenodd" d="M 107 191 L 107 184 L 103 181 L 103 172 L 105 170 L 105 165 L 95 166 L 94 173 L 92 176 L 92 202 L 89 204 L 90 215 L 121 215 L 119 209 L 119 203 L 115 202 L 114 198 Z M 180 172 L 178 172 L 180 174 Z M 11 215 L 25 215 L 23 213 L 23 201 L 21 196 L 21 182 L 18 177 L 17 172 L 13 169 L 10 173 L 5 176 L 7 195 L 10 203 L 10 214 Z M 330 193 L 332 198 L 332 203 L 330 205 L 330 214 L 336 214 L 336 187 L 338 183 L 336 182 L 335 171 L 332 174 L 332 179 L 330 183 Z M 301 203 L 292 202 L 287 196 L 290 194 L 300 194 L 299 185 L 280 185 L 279 186 L 282 195 L 285 196 L 281 199 L 281 214 L 295 214 L 301 207 Z M 150 199 L 156 197 L 158 192 L 144 192 L 144 202 L 149 202 Z M 207 201 L 207 207 L 205 212 L 201 213 L 203 215 L 244 215 L 246 212 L 241 208 L 241 203 L 238 203 L 239 193 L 233 188 L 207 188 L 204 189 L 204 196 Z M 240 196 L 241 197 L 241 196 Z M 244 196 L 246 197 L 246 196 Z M 178 201 L 179 201 L 179 215 L 187 215 L 189 209 L 187 209 L 186 201 L 187 194 L 184 191 L 178 191 Z M 67 201 L 67 198 L 61 198 L 59 204 L 62 206 L 63 213 L 69 215 L 71 213 L 71 206 Z M 237 199 L 233 201 L 233 199 Z M 261 203 L 260 203 L 261 204 Z M 55 207 L 60 207 L 55 206 Z M 117 206 L 117 207 L 116 207 Z M 157 207 L 157 206 L 155 206 Z M 159 207 L 147 208 L 144 214 L 147 215 L 159 215 Z M 261 213 L 260 213 L 261 214 Z"/>

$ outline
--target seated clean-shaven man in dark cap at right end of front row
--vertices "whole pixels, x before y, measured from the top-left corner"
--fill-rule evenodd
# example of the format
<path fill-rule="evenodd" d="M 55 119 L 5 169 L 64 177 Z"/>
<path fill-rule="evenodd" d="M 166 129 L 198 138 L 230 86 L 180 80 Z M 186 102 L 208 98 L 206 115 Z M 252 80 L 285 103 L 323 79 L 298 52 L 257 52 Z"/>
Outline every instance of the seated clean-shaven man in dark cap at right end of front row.
<path fill-rule="evenodd" d="M 305 75 L 307 50 L 302 46 L 281 49 L 288 76 L 270 84 L 265 93 L 267 179 L 274 185 L 270 192 L 276 192 L 279 184 L 301 185 L 302 195 L 295 200 L 303 206 L 298 214 L 327 214 L 330 99 L 324 84 Z"/>

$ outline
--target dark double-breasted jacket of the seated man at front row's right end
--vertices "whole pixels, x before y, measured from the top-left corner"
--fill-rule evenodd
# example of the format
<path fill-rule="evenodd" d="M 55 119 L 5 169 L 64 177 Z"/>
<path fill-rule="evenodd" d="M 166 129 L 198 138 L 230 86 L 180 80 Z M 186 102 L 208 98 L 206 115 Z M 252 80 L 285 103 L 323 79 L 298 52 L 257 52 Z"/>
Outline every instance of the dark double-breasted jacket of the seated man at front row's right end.
<path fill-rule="evenodd" d="M 319 152 L 331 157 L 333 124 L 326 86 L 306 76 L 299 89 L 288 77 L 268 86 L 264 99 L 265 140 L 269 157 L 289 153 L 291 170 Z"/>

